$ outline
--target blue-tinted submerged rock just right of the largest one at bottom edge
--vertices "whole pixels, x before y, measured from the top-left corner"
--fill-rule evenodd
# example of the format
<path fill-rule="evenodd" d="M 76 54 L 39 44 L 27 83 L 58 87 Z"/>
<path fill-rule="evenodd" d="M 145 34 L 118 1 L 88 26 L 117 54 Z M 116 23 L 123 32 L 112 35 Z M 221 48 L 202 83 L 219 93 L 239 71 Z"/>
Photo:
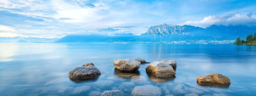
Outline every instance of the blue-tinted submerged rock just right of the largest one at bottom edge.
<path fill-rule="evenodd" d="M 176 96 L 182 96 L 184 94 L 188 94 L 188 90 L 184 90 L 183 84 L 167 84 L 162 87 L 162 90 L 164 90 L 164 94 L 173 94 Z"/>

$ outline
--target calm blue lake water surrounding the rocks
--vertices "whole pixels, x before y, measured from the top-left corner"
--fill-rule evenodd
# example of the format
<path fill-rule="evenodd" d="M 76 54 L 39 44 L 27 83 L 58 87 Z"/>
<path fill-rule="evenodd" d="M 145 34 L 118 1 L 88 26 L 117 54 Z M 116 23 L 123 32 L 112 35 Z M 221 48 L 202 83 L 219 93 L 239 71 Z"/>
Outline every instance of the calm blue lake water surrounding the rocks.
<path fill-rule="evenodd" d="M 146 73 L 114 69 L 113 61 L 136 57 L 146 62 L 176 60 L 174 78 L 158 79 Z M 68 72 L 93 62 L 101 75 L 74 82 Z M 230 78 L 227 88 L 200 86 L 198 76 L 219 73 Z M 131 76 L 145 76 L 146 83 L 131 83 Z M 122 84 L 121 84 L 122 83 Z M 104 90 L 121 90 L 127 96 L 135 86 L 150 84 L 162 96 L 196 93 L 199 96 L 255 96 L 256 46 L 232 44 L 83 44 L 0 43 L 1 96 L 88 96 Z"/>

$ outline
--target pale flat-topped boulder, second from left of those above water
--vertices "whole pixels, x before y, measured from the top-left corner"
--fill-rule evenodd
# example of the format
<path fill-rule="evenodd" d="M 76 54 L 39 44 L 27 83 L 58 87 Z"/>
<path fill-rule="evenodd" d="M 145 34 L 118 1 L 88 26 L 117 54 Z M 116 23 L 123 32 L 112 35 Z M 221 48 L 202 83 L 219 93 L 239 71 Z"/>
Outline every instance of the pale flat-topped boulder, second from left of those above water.
<path fill-rule="evenodd" d="M 119 59 L 114 60 L 114 66 L 116 69 L 120 71 L 135 71 L 138 68 L 140 68 L 140 62 L 137 60 L 131 60 L 131 59 Z"/>

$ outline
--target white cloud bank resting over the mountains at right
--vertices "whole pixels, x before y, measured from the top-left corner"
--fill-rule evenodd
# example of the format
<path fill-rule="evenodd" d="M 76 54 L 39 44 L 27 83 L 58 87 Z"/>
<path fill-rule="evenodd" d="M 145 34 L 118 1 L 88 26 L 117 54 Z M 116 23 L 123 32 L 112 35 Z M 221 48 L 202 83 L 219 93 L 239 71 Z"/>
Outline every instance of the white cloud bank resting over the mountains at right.
<path fill-rule="evenodd" d="M 216 25 L 247 25 L 247 26 L 255 26 L 256 25 L 256 14 L 249 13 L 249 14 L 241 14 L 241 13 L 230 13 L 224 14 L 222 16 L 208 16 L 204 17 L 203 20 L 200 21 L 187 21 L 182 24 L 178 25 L 192 25 L 192 26 L 199 26 L 199 27 L 208 27 L 213 24 Z"/>

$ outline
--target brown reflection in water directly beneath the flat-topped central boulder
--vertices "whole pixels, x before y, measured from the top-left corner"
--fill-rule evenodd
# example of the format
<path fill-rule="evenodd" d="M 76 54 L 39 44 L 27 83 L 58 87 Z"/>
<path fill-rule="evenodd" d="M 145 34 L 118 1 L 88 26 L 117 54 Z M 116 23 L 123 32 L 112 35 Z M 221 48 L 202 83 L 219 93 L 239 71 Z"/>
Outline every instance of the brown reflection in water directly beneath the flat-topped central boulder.
<path fill-rule="evenodd" d="M 114 75 L 118 75 L 123 78 L 130 78 L 134 75 L 140 75 L 140 71 L 136 70 L 136 71 L 132 71 L 132 72 L 122 72 L 120 70 L 115 69 Z"/>

